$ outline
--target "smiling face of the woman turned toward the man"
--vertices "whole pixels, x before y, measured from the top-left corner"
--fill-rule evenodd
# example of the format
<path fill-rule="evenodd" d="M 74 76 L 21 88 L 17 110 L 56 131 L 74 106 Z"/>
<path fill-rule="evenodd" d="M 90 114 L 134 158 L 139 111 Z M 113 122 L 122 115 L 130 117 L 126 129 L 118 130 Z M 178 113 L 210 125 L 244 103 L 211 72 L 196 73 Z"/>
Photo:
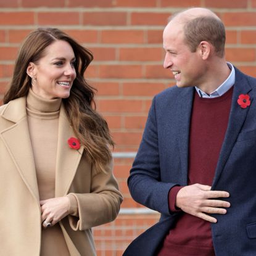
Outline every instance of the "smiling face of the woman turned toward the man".
<path fill-rule="evenodd" d="M 46 47 L 43 57 L 35 64 L 30 62 L 27 73 L 32 80 L 34 93 L 45 99 L 67 98 L 76 78 L 75 54 L 66 41 L 58 40 Z"/>

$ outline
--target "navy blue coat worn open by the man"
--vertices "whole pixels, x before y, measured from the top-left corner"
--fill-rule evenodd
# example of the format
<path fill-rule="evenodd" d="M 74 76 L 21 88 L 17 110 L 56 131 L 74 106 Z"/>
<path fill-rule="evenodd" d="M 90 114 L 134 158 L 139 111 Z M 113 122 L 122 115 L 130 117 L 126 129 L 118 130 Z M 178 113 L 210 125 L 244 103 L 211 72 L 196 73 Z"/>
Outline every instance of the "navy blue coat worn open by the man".
<path fill-rule="evenodd" d="M 240 94 L 251 104 L 242 109 Z M 168 88 L 154 97 L 128 186 L 134 200 L 161 213 L 124 256 L 155 256 L 180 213 L 168 209 L 168 192 L 188 184 L 189 123 L 194 88 Z M 236 68 L 228 128 L 212 190 L 228 191 L 231 207 L 212 223 L 216 256 L 256 255 L 256 79 Z"/>

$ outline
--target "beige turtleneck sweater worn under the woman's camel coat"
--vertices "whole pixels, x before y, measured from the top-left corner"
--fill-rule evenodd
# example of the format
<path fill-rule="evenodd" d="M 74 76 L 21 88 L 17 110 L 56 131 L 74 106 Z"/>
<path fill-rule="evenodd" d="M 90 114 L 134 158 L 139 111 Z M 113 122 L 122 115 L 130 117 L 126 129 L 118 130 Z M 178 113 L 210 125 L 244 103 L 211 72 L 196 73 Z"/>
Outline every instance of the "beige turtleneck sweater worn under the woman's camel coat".
<path fill-rule="evenodd" d="M 34 154 L 39 199 L 55 197 L 59 110 L 62 99 L 43 99 L 30 89 L 27 96 L 28 128 Z M 70 214 L 77 216 L 77 202 L 69 195 Z M 41 256 L 70 256 L 59 223 L 42 227 Z"/>

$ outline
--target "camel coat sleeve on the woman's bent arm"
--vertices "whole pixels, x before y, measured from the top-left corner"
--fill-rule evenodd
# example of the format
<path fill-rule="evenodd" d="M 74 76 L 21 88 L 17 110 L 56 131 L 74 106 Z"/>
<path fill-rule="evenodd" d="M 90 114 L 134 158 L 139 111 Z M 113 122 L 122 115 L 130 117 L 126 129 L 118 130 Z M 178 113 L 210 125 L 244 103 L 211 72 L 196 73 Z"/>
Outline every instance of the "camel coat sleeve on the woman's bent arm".
<path fill-rule="evenodd" d="M 97 173 L 93 168 L 90 193 L 70 193 L 78 205 L 78 217 L 68 215 L 73 230 L 89 229 L 117 217 L 123 198 L 112 173 L 113 162 L 110 165 L 105 173 Z"/>

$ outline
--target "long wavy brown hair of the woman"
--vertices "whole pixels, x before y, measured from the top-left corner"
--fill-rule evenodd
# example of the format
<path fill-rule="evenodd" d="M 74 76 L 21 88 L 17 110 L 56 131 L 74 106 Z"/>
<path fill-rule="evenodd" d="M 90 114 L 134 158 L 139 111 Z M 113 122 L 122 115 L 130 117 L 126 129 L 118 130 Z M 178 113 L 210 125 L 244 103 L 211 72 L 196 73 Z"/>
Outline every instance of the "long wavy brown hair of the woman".
<path fill-rule="evenodd" d="M 96 112 L 95 89 L 88 85 L 84 78 L 85 70 L 93 60 L 93 54 L 63 31 L 57 28 L 38 28 L 27 36 L 20 47 L 10 88 L 4 96 L 4 104 L 27 96 L 31 86 L 31 78 L 27 75 L 28 64 L 38 62 L 46 47 L 56 40 L 67 41 L 72 46 L 76 59 L 76 78 L 70 96 L 62 99 L 68 119 L 96 171 L 105 171 L 112 159 L 109 146 L 114 147 L 114 141 L 107 122 Z"/>

